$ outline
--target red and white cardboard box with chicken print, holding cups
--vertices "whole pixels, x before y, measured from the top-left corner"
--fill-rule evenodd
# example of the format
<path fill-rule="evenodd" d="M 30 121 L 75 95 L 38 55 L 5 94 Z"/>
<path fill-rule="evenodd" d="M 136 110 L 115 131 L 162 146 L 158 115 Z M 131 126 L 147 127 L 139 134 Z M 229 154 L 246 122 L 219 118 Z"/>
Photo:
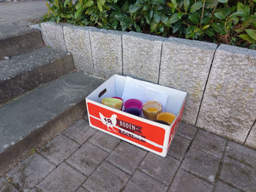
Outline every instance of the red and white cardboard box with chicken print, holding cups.
<path fill-rule="evenodd" d="M 126 80 L 127 77 L 115 74 L 86 97 L 90 126 L 165 157 L 181 122 L 187 93 L 141 81 L 167 93 L 163 111 L 176 115 L 173 123 L 167 126 L 101 104 L 102 98 L 121 97 Z"/>

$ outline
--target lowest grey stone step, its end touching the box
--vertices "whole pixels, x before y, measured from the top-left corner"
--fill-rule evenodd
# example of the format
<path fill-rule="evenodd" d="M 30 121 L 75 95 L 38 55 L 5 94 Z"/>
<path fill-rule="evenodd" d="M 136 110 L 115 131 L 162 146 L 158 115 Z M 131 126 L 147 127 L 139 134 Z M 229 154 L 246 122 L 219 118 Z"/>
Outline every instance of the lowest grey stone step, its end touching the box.
<path fill-rule="evenodd" d="M 85 97 L 102 83 L 71 72 L 0 107 L 0 177 L 86 115 Z"/>

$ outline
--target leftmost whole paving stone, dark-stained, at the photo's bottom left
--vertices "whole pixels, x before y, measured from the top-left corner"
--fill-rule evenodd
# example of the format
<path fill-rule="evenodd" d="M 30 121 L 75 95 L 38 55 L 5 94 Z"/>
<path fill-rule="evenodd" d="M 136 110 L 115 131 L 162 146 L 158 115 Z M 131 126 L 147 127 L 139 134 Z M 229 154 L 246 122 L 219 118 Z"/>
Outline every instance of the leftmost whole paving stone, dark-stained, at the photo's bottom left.
<path fill-rule="evenodd" d="M 25 191 L 34 188 L 54 167 L 41 155 L 35 153 L 8 172 L 7 177 L 11 177 L 12 183 Z"/>

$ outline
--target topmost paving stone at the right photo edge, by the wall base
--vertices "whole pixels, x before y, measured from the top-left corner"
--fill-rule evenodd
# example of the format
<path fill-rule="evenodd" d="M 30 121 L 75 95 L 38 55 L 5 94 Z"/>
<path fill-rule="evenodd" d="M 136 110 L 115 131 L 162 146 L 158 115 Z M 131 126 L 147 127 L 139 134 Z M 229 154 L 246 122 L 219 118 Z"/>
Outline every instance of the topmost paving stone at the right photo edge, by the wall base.
<path fill-rule="evenodd" d="M 229 158 L 235 158 L 243 164 L 247 164 L 256 168 L 255 150 L 249 149 L 248 147 L 244 147 L 235 142 L 228 141 L 225 154 Z"/>

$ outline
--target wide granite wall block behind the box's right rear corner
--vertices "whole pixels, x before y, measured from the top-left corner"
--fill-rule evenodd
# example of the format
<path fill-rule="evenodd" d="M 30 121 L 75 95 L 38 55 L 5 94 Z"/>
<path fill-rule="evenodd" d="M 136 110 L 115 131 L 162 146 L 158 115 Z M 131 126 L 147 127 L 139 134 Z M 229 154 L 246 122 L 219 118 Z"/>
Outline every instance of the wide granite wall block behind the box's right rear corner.
<path fill-rule="evenodd" d="M 170 37 L 162 45 L 159 84 L 187 91 L 182 120 L 194 125 L 216 44 Z"/>

